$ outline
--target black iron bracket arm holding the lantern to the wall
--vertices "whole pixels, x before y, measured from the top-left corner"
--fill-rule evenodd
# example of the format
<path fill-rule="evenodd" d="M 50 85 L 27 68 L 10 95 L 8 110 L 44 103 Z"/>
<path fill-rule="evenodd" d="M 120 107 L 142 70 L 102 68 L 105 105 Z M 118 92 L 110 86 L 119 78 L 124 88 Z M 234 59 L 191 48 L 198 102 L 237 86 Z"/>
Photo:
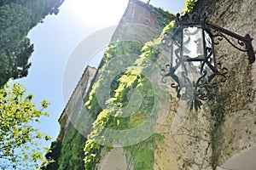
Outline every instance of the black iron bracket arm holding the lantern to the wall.
<path fill-rule="evenodd" d="M 242 37 L 242 36 L 236 34 L 235 32 L 229 31 L 229 30 L 224 29 L 223 27 L 220 27 L 220 26 L 213 25 L 212 23 L 207 23 L 207 26 L 212 27 L 214 30 L 218 30 L 218 31 L 230 36 L 230 37 L 234 37 L 234 38 L 236 38 L 237 40 L 239 40 L 241 42 L 244 42 L 245 45 L 246 45 L 246 50 L 245 51 L 248 54 L 249 63 L 253 64 L 253 62 L 255 61 L 255 55 L 254 55 L 254 52 L 253 52 L 253 45 L 252 45 L 253 38 L 250 37 L 249 34 L 247 34 L 245 37 Z M 224 38 L 227 39 L 226 37 L 224 37 Z M 230 42 L 228 39 L 227 39 L 227 41 Z M 236 48 L 236 46 L 232 42 L 230 42 L 230 44 Z M 242 50 L 242 51 L 244 51 L 244 50 Z"/>

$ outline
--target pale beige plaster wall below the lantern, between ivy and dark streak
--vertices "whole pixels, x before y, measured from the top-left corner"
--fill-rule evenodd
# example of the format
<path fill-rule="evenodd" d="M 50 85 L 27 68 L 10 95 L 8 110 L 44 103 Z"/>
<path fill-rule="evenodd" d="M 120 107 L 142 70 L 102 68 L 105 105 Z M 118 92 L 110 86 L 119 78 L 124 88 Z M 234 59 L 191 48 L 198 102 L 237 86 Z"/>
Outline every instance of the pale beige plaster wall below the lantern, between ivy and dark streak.
<path fill-rule="evenodd" d="M 157 170 L 212 169 L 211 132 L 209 109 L 188 111 L 187 104 L 173 96 L 169 115 L 158 133 L 163 141 L 156 141 L 155 164 Z"/>

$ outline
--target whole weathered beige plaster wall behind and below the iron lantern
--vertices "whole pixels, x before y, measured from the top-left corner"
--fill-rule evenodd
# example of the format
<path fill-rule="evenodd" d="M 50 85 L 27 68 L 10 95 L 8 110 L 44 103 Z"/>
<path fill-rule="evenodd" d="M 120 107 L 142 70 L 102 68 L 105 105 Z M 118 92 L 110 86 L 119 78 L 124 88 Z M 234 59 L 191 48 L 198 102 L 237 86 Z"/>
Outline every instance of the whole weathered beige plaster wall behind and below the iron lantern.
<path fill-rule="evenodd" d="M 206 11 L 215 25 L 256 39 L 255 8 L 255 0 L 199 0 L 194 11 Z M 255 40 L 253 48 L 255 53 Z M 166 139 L 157 141 L 154 169 L 221 168 L 231 156 L 256 143 L 256 64 L 249 65 L 247 53 L 225 40 L 215 50 L 216 59 L 229 69 L 227 82 L 199 112 L 185 111 L 181 101 L 172 99 L 170 115 L 159 129 Z M 173 127 L 177 130 L 170 133 Z"/>

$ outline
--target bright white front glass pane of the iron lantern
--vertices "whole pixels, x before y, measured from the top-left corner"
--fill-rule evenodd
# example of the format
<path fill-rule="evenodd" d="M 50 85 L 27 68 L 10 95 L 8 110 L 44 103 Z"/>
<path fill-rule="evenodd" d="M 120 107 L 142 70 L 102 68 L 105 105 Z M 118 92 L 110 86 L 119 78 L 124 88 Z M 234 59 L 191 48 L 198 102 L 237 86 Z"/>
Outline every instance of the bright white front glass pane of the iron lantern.
<path fill-rule="evenodd" d="M 189 26 L 183 29 L 183 55 L 189 58 L 203 56 L 202 29 Z"/>

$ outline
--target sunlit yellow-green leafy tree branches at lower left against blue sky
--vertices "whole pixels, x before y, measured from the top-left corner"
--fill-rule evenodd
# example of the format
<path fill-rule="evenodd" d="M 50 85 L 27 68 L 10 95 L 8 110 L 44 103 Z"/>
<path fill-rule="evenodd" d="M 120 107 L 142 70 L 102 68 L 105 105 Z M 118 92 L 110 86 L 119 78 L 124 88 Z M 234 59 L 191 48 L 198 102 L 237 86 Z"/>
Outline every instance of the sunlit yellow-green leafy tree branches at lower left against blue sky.
<path fill-rule="evenodd" d="M 32 169 L 42 161 L 48 163 L 42 149 L 49 150 L 41 143 L 50 138 L 32 124 L 48 116 L 44 110 L 49 102 L 44 100 L 37 109 L 32 99 L 20 83 L 0 88 L 0 169 Z"/>

